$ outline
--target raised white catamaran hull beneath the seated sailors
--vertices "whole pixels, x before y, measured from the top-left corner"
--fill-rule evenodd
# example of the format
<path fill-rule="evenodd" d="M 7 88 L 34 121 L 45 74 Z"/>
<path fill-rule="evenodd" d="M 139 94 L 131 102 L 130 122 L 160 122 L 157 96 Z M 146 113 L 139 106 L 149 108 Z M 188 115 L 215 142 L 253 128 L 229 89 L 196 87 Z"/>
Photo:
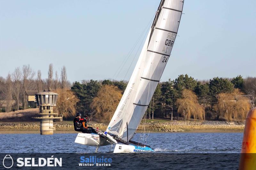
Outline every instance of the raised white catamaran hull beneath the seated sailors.
<path fill-rule="evenodd" d="M 117 142 L 108 134 L 106 135 L 106 138 L 102 138 L 100 135 L 95 133 L 78 133 L 75 143 L 88 146 L 105 146 L 112 145 Z"/>

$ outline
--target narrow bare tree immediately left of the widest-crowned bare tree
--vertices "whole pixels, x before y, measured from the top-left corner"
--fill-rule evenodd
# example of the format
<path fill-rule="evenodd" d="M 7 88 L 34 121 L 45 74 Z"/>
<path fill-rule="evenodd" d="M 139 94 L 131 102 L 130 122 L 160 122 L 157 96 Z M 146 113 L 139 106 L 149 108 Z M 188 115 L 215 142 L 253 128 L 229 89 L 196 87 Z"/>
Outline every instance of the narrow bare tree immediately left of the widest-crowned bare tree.
<path fill-rule="evenodd" d="M 16 102 L 16 109 L 19 110 L 20 85 L 21 85 L 20 67 L 15 68 L 14 72 L 12 73 L 12 80 L 13 80 L 12 93 L 13 93 L 14 100 Z"/>

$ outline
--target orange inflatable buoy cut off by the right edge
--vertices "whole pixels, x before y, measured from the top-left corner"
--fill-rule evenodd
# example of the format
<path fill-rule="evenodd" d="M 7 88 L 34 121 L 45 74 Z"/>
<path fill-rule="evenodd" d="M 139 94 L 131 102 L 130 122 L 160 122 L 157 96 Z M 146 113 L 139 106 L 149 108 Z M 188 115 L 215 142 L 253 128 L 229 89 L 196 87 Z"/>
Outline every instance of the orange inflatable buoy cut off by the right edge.
<path fill-rule="evenodd" d="M 245 120 L 239 170 L 256 169 L 256 107 L 251 109 Z"/>

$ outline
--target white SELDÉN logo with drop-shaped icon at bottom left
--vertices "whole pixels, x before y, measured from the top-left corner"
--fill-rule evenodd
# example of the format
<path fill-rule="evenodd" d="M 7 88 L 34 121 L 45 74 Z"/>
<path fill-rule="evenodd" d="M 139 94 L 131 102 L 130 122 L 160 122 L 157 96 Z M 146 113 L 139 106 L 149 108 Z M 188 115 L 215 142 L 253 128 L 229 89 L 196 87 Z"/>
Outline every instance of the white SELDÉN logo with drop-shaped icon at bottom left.
<path fill-rule="evenodd" d="M 53 155 L 50 158 L 17 158 L 17 166 L 62 166 L 62 158 L 53 158 Z M 11 155 L 5 155 L 3 159 L 3 166 L 5 168 L 11 168 L 13 166 L 13 159 Z"/>

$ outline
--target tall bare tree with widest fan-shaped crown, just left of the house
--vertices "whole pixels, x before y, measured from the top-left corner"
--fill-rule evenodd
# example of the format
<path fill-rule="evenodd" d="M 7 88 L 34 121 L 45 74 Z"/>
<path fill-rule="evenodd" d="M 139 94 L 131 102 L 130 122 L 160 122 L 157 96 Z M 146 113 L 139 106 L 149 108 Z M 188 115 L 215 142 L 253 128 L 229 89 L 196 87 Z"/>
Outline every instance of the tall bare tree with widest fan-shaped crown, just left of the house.
<path fill-rule="evenodd" d="M 34 70 L 30 65 L 23 65 L 22 67 L 22 106 L 23 109 L 27 109 L 28 100 L 26 96 L 26 91 L 28 90 L 29 82 L 33 79 L 35 75 Z"/>

